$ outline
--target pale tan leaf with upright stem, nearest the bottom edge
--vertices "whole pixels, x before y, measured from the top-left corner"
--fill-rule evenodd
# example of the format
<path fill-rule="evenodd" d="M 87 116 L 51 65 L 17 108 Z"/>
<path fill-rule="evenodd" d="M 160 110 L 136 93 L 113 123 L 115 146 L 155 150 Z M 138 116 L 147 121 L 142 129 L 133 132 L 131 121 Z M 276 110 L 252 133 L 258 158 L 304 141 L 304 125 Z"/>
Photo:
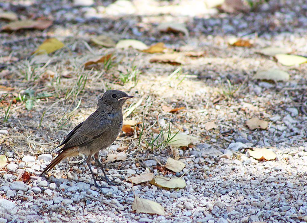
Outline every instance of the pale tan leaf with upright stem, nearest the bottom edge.
<path fill-rule="evenodd" d="M 131 208 L 132 210 L 136 211 L 136 213 L 165 215 L 164 207 L 162 207 L 162 205 L 155 201 L 139 198 L 137 196 L 134 197 Z"/>

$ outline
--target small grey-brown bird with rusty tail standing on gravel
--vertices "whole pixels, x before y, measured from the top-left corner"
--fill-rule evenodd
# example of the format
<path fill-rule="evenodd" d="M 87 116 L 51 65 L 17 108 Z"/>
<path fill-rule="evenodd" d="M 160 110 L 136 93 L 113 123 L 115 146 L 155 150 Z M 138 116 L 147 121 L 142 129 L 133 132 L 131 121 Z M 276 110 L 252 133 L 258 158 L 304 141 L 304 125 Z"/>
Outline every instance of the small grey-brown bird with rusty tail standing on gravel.
<path fill-rule="evenodd" d="M 72 129 L 61 144 L 56 147 L 64 145 L 57 152 L 58 156 L 50 162 L 40 176 L 50 171 L 64 158 L 83 153 L 88 156 L 86 163 L 91 171 L 95 186 L 99 187 L 91 169 L 91 156 L 94 154 L 95 161 L 102 169 L 105 180 L 108 184 L 113 185 L 114 183 L 109 181 L 99 162 L 98 154 L 101 149 L 106 149 L 115 141 L 122 129 L 122 105 L 128 98 L 133 98 L 133 96 L 118 90 L 106 91 L 98 100 L 97 110 Z"/>

